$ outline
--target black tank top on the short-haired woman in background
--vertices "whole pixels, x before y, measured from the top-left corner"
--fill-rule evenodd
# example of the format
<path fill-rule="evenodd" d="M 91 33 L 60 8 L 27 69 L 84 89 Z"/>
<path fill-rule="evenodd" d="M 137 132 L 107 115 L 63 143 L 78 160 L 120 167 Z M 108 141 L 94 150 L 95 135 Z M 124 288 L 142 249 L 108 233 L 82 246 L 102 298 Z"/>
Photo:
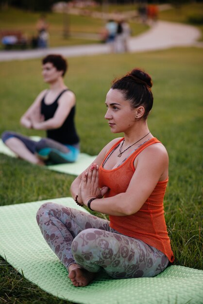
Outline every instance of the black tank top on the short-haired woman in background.
<path fill-rule="evenodd" d="M 56 109 L 58 107 L 58 100 L 61 95 L 68 91 L 68 89 L 63 90 L 56 100 L 51 104 L 45 103 L 45 96 L 41 101 L 41 114 L 44 115 L 45 120 L 53 118 Z M 47 130 L 47 137 L 51 138 L 55 141 L 58 141 L 64 145 L 74 145 L 79 143 L 79 136 L 77 135 L 75 124 L 74 124 L 74 116 L 75 116 L 75 106 L 73 106 L 70 110 L 70 113 L 66 120 L 64 121 L 63 125 L 58 129 L 51 129 Z"/>

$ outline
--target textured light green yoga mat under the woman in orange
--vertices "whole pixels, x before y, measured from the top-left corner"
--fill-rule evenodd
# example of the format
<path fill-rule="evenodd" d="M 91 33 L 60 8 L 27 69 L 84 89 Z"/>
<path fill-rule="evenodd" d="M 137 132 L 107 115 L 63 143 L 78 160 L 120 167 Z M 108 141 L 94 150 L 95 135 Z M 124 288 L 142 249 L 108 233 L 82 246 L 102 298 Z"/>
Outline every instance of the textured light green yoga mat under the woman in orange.
<path fill-rule="evenodd" d="M 0 207 L 0 255 L 29 281 L 78 304 L 203 304 L 203 271 L 182 266 L 154 278 L 114 280 L 100 272 L 87 287 L 74 287 L 37 226 L 35 214 L 45 202 L 82 208 L 72 198 Z"/>

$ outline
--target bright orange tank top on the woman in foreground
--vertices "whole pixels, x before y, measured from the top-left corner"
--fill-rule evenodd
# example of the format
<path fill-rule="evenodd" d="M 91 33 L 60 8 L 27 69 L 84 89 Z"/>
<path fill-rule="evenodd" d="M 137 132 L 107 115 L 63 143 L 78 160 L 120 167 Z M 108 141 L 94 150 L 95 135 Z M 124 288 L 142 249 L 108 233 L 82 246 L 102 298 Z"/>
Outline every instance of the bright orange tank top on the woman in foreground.
<path fill-rule="evenodd" d="M 106 154 L 99 169 L 100 187 L 108 186 L 109 190 L 105 197 L 112 197 L 127 190 L 131 178 L 135 172 L 135 157 L 148 146 L 160 143 L 153 137 L 133 152 L 124 163 L 112 170 L 103 169 L 103 163 L 108 155 L 123 140 L 121 138 Z M 158 182 L 152 194 L 142 207 L 130 216 L 109 216 L 110 227 L 126 236 L 138 238 L 148 245 L 164 253 L 170 262 L 174 261 L 173 252 L 170 247 L 170 239 L 164 218 L 164 195 L 168 179 Z"/>

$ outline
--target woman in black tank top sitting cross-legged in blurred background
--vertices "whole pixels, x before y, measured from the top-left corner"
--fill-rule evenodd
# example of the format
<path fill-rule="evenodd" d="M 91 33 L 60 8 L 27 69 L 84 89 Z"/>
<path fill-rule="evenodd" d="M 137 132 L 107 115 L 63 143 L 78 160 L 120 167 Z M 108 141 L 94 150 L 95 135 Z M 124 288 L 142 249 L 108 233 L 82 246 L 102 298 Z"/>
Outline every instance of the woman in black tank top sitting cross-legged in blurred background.
<path fill-rule="evenodd" d="M 75 94 L 64 84 L 67 61 L 61 55 L 48 55 L 42 60 L 42 75 L 49 90 L 43 90 L 21 117 L 25 128 L 45 130 L 46 138 L 39 141 L 17 134 L 4 132 L 3 142 L 20 158 L 30 163 L 59 164 L 77 160 L 79 136 L 75 116 Z"/>

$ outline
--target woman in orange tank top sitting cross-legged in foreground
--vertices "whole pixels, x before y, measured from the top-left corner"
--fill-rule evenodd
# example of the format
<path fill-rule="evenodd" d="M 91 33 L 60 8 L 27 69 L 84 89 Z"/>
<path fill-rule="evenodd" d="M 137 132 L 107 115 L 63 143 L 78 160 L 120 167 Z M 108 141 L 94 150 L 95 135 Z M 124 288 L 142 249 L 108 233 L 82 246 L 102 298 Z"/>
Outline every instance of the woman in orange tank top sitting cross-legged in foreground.
<path fill-rule="evenodd" d="M 124 137 L 108 143 L 71 185 L 76 203 L 109 220 L 53 203 L 37 212 L 43 236 L 76 287 L 101 269 L 117 279 L 153 277 L 174 260 L 163 207 L 168 154 L 147 125 L 151 87 L 151 77 L 137 68 L 114 81 L 105 119 Z"/>

